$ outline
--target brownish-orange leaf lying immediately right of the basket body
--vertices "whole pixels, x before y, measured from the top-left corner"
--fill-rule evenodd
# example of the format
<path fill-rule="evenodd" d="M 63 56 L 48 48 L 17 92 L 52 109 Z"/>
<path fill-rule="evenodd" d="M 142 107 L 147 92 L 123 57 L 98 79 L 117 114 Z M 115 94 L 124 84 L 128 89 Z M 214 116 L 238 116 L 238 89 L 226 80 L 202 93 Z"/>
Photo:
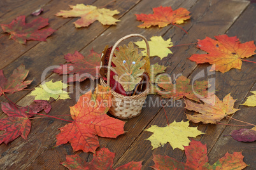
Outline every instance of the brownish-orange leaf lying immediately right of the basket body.
<path fill-rule="evenodd" d="M 194 81 L 190 84 L 190 79 L 183 75 L 176 79 L 175 84 L 169 78 L 162 77 L 158 82 L 158 86 L 164 89 L 164 91 L 158 91 L 159 95 L 163 98 L 173 98 L 174 100 L 185 96 L 190 100 L 199 101 L 199 98 L 205 98 L 213 94 L 213 92 L 206 90 L 210 88 L 208 81 Z"/>

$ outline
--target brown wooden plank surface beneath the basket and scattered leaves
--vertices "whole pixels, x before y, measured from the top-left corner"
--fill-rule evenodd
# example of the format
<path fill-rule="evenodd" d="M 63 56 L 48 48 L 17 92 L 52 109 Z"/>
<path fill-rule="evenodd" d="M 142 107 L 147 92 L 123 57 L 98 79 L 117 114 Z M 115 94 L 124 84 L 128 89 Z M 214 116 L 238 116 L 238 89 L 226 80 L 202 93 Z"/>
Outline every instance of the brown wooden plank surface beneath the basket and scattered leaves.
<path fill-rule="evenodd" d="M 28 41 L 26 45 L 8 39 L 8 36 L 0 39 L 0 69 L 3 69 L 4 75 L 8 77 L 13 70 L 20 64 L 24 64 L 29 70 L 27 80 L 34 79 L 28 88 L 38 86 L 44 79 L 41 75 L 45 69 L 53 65 L 65 63 L 64 55 L 80 51 L 83 55 L 88 55 L 90 49 L 101 53 L 106 44 L 112 46 L 118 39 L 127 34 L 138 33 L 150 39 L 152 36 L 162 36 L 165 40 L 171 38 L 174 45 L 195 43 L 197 39 L 204 39 L 206 36 L 213 38 L 219 34 L 228 36 L 238 36 L 241 42 L 253 41 L 256 39 L 256 4 L 250 1 L 236 0 L 192 0 L 192 1 L 155 1 L 155 0 L 120 0 L 110 3 L 106 8 L 120 11 L 115 18 L 121 20 L 117 25 L 101 25 L 99 22 L 92 23 L 89 27 L 76 29 L 73 22 L 78 18 L 62 18 L 55 16 L 60 10 L 69 10 L 68 5 L 76 3 L 92 4 L 94 6 L 104 6 L 103 0 L 79 0 L 79 1 L 1 1 L 0 23 L 10 23 L 17 16 L 25 15 L 26 21 L 31 22 L 39 16 L 31 16 L 31 12 L 38 8 L 43 8 L 43 18 L 49 18 L 50 27 L 57 31 L 48 37 L 46 42 Z M 192 14 L 192 18 L 180 25 L 187 30 L 183 30 L 173 25 L 159 29 L 159 27 L 150 27 L 149 29 L 140 29 L 137 26 L 141 22 L 136 20 L 134 14 L 152 13 L 152 8 L 158 6 L 172 6 L 173 9 L 180 7 L 187 8 Z M 3 32 L 0 30 L 0 32 Z M 1 34 L 4 35 L 4 34 Z M 129 41 L 138 41 L 138 38 L 129 39 Z M 124 44 L 129 41 L 124 41 Z M 255 90 L 255 64 L 243 62 L 241 70 L 231 69 L 222 74 L 220 72 L 209 72 L 211 65 L 196 65 L 187 58 L 194 53 L 204 53 L 196 48 L 195 45 L 177 46 L 171 48 L 172 55 L 160 60 L 159 57 L 152 57 L 150 62 L 159 63 L 167 67 L 166 73 L 173 76 L 182 74 L 185 77 L 193 79 L 200 77 L 199 80 L 211 79 L 215 81 L 217 96 L 222 100 L 225 95 L 231 93 L 231 96 L 237 99 L 235 108 L 240 108 L 233 115 L 235 119 L 255 124 L 255 108 L 241 106 L 246 97 L 252 95 L 249 91 Z M 248 60 L 256 61 L 255 56 Z M 203 70 L 203 73 L 202 73 Z M 47 72 L 46 81 L 62 80 L 63 77 L 52 72 Z M 81 88 L 78 88 L 81 87 Z M 78 91 L 78 89 L 80 89 Z M 69 114 L 69 106 L 76 103 L 76 96 L 81 95 L 90 89 L 90 81 L 74 84 L 69 89 L 71 100 L 58 100 L 52 103 L 52 111 L 49 115 Z M 20 91 L 7 96 L 18 103 L 18 105 L 29 105 L 34 98 L 27 96 L 30 91 Z M 2 95 L 1 101 L 7 102 Z M 184 113 L 184 103 L 180 100 L 181 107 L 178 107 L 172 100 L 167 101 L 165 110 L 169 122 L 187 121 Z M 160 101 L 159 96 L 148 95 L 145 107 L 138 117 L 125 120 L 125 131 L 127 133 L 118 136 L 117 139 L 99 138 L 101 147 L 107 147 L 111 152 L 115 152 L 114 167 L 122 166 L 127 162 L 143 160 L 143 169 L 151 169 L 153 166 L 153 154 L 168 155 L 179 161 L 185 162 L 186 157 L 182 150 L 174 149 L 167 143 L 164 147 L 152 150 L 150 141 L 145 140 L 151 133 L 143 131 L 151 125 L 166 126 L 166 115 L 161 106 L 153 106 L 152 102 Z M 176 103 L 177 104 L 177 103 Z M 168 107 L 169 106 L 169 107 Z M 187 111 L 185 111 L 187 112 Z M 0 119 L 6 117 L 0 112 Z M 64 119 L 71 119 L 64 117 Z M 224 119 L 224 124 L 240 124 L 236 121 Z M 55 136 L 59 134 L 58 128 L 64 126 L 66 122 L 52 118 L 32 120 L 31 133 L 27 141 L 23 138 L 17 138 L 8 145 L 0 145 L 0 169 L 66 169 L 59 163 L 65 160 L 66 155 L 79 154 L 83 159 L 92 160 L 93 154 L 83 152 L 73 152 L 70 144 L 60 145 L 53 148 L 56 143 Z M 236 126 L 225 126 L 220 124 L 193 124 L 190 126 L 199 126 L 199 130 L 206 134 L 198 136 L 196 140 L 206 143 L 208 148 L 208 157 L 210 164 L 216 162 L 226 152 L 241 152 L 245 155 L 244 161 L 250 164 L 246 169 L 255 169 L 255 142 L 241 143 L 233 140 L 230 136 L 232 130 L 239 129 Z M 250 128 L 250 127 L 249 127 Z"/>

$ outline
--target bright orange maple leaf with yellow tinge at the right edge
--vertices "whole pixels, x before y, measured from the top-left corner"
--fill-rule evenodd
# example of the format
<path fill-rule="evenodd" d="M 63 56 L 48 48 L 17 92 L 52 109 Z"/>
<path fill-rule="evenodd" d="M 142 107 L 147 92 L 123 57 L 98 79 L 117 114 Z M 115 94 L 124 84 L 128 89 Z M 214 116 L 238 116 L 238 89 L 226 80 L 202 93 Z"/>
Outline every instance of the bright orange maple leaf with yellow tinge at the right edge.
<path fill-rule="evenodd" d="M 215 38 L 217 41 L 210 37 L 198 40 L 197 48 L 206 51 L 208 54 L 194 54 L 188 59 L 197 64 L 213 64 L 210 71 L 216 70 L 224 73 L 232 68 L 241 69 L 241 58 L 248 58 L 255 55 L 256 46 L 253 41 L 241 44 L 236 36 L 228 37 L 227 35 L 220 35 L 215 36 Z"/>

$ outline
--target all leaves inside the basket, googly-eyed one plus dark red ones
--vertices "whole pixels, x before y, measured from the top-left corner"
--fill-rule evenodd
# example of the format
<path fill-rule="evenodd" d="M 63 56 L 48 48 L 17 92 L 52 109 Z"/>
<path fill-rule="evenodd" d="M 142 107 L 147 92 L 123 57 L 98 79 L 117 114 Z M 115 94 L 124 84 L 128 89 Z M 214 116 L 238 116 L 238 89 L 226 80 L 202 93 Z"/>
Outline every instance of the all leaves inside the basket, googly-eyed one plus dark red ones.
<path fill-rule="evenodd" d="M 110 53 L 113 47 L 106 48 L 103 51 L 101 62 L 103 66 L 100 70 L 104 81 L 107 80 L 107 65 L 110 60 Z M 134 48 L 132 42 L 128 46 L 119 46 L 113 54 L 110 71 L 110 87 L 117 93 L 127 96 L 145 91 L 146 83 L 149 81 L 150 61 L 146 56 L 142 60 L 142 53 Z"/>

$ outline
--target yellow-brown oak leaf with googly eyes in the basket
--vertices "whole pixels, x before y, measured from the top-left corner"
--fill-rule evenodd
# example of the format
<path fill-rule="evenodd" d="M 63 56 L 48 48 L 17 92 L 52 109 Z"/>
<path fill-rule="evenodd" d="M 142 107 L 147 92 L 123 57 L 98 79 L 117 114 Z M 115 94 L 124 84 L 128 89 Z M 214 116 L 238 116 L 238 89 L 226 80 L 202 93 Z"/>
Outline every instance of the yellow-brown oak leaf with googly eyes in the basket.
<path fill-rule="evenodd" d="M 112 62 L 115 64 L 113 69 L 117 75 L 113 78 L 122 85 L 125 91 L 132 91 L 141 81 L 139 76 L 144 72 L 141 67 L 146 60 L 141 60 L 142 54 L 138 53 L 138 49 L 134 48 L 132 42 L 129 42 L 128 46 L 119 46 L 119 50 L 115 50 L 115 56 Z"/>

